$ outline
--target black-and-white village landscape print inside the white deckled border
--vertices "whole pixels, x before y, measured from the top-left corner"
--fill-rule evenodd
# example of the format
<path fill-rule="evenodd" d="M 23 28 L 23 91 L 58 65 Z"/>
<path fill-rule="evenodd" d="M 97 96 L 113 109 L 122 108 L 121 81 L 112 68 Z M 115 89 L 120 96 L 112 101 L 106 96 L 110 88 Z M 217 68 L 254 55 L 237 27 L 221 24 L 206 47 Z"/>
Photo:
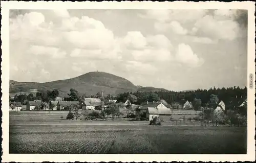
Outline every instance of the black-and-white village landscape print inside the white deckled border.
<path fill-rule="evenodd" d="M 233 7 L 9 9 L 5 152 L 248 154 L 248 16 Z"/>

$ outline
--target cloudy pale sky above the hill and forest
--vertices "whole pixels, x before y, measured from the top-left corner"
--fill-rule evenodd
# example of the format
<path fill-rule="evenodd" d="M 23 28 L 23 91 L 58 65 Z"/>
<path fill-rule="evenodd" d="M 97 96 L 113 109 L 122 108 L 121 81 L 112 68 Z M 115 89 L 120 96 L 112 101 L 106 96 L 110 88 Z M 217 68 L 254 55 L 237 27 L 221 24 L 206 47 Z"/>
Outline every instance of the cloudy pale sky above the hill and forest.
<path fill-rule="evenodd" d="M 246 10 L 10 10 L 10 79 L 88 72 L 168 90 L 247 84 Z"/>

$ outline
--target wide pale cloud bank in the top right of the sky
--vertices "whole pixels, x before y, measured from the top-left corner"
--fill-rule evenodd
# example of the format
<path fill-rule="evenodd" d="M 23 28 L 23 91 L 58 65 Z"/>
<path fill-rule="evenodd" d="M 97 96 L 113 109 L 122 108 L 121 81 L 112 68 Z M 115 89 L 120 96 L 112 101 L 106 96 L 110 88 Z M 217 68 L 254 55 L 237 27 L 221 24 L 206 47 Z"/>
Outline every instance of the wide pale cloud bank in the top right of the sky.
<path fill-rule="evenodd" d="M 213 10 L 212 14 L 208 10 L 146 10 L 141 17 L 155 19 L 154 28 L 158 32 L 172 30 L 181 35 L 233 40 L 241 35 L 237 15 L 233 9 Z"/>

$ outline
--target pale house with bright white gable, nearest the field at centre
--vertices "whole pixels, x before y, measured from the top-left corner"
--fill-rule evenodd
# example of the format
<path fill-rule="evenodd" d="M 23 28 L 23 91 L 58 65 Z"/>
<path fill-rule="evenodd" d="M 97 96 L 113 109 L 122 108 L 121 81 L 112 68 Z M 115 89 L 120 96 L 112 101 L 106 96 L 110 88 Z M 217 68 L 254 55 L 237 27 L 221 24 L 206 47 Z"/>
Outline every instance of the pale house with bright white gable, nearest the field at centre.
<path fill-rule="evenodd" d="M 154 117 L 159 117 L 160 120 L 166 121 L 170 119 L 170 109 L 162 103 L 151 103 L 142 106 L 143 110 L 146 108 L 146 119 L 151 121 Z"/>

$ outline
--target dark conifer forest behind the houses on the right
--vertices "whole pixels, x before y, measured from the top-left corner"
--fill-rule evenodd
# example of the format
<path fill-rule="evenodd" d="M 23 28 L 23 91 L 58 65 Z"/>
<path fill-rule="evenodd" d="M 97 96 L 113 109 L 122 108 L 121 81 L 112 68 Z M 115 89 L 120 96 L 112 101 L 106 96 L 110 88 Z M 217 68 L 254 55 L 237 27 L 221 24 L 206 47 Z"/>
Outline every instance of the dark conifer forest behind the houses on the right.
<path fill-rule="evenodd" d="M 125 92 L 117 96 L 117 100 L 124 101 L 129 95 L 137 97 L 136 104 L 144 101 L 153 102 L 158 98 L 165 100 L 168 104 L 180 103 L 184 100 L 192 102 L 194 99 L 201 99 L 202 106 L 208 103 L 211 95 L 218 96 L 219 101 L 223 101 L 227 107 L 234 107 L 242 104 L 247 98 L 247 87 L 228 87 L 228 88 L 210 88 L 210 89 L 197 89 L 194 91 L 136 91 Z"/>

